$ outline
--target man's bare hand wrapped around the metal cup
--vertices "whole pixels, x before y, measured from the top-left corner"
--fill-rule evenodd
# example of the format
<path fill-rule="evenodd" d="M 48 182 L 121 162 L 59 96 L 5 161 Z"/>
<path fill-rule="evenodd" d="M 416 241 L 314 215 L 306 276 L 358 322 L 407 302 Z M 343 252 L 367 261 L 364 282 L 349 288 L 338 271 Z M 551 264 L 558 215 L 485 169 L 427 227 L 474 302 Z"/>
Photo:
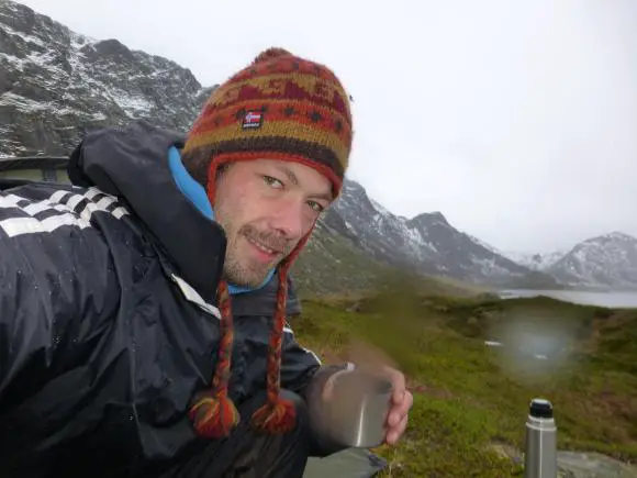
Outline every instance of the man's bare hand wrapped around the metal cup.
<path fill-rule="evenodd" d="M 371 370 L 368 370 L 371 371 Z M 342 370 L 334 374 L 323 389 L 323 399 L 327 402 L 332 398 L 334 382 L 340 374 L 347 374 L 348 370 Z M 407 426 L 409 412 L 414 403 L 412 393 L 406 389 L 405 377 L 395 368 L 387 365 L 373 370 L 373 375 L 388 379 L 392 385 L 391 405 L 387 415 L 385 443 L 394 445 L 401 438 Z"/>

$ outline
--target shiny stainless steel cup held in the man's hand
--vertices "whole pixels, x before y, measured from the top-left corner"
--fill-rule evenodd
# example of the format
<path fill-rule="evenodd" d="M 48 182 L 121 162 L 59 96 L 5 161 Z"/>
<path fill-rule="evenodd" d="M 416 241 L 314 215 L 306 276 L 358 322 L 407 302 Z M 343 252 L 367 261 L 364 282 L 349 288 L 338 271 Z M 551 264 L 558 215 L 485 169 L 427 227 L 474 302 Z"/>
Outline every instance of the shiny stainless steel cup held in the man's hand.
<path fill-rule="evenodd" d="M 356 369 L 334 378 L 326 423 L 323 424 L 328 429 L 328 434 L 340 444 L 354 448 L 382 445 L 391 407 L 391 382 Z"/>

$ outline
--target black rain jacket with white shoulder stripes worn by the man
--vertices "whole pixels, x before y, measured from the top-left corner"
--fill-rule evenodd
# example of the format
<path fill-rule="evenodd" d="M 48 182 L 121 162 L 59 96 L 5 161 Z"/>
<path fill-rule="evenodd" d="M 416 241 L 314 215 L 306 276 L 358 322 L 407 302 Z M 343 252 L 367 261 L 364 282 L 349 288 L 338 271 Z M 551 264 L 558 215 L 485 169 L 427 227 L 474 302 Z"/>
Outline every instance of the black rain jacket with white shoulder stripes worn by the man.
<path fill-rule="evenodd" d="M 225 238 L 168 167 L 182 144 L 144 122 L 96 131 L 70 157 L 81 187 L 0 191 L 0 476 L 82 455 L 120 476 L 194 440 L 187 411 L 216 365 Z M 266 385 L 276 281 L 233 299 L 237 403 Z M 286 327 L 281 386 L 303 393 L 320 366 Z"/>

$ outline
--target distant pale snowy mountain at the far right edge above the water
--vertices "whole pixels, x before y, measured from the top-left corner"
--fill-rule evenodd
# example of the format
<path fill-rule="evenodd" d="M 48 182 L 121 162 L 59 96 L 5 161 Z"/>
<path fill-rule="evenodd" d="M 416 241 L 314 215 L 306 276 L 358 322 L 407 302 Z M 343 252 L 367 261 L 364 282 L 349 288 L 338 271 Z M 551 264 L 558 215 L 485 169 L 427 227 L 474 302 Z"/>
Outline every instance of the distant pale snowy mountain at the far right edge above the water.
<path fill-rule="evenodd" d="M 601 235 L 575 245 L 546 271 L 571 286 L 637 288 L 637 238 L 621 233 Z"/>

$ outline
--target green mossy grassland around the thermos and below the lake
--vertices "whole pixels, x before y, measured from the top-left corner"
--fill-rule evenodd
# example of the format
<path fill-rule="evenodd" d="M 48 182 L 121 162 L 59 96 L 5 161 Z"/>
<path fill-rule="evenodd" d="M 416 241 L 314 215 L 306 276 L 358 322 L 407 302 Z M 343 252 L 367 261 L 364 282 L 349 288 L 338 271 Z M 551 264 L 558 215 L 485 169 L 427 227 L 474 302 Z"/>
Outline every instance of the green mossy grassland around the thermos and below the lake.
<path fill-rule="evenodd" d="M 636 311 L 402 288 L 305 300 L 292 326 L 327 363 L 380 356 L 407 374 L 415 404 L 403 443 L 377 451 L 385 476 L 521 476 L 503 451 L 523 448 L 534 397 L 554 402 L 561 449 L 637 460 Z"/>

